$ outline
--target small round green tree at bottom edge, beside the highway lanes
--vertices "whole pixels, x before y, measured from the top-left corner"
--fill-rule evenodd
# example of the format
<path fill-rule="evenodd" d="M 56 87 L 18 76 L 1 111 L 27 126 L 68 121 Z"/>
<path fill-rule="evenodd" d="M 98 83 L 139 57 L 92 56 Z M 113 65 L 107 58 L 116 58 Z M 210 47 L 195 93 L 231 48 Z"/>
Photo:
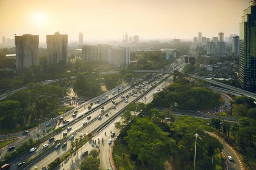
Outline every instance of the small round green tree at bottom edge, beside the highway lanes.
<path fill-rule="evenodd" d="M 92 156 L 86 157 L 80 164 L 80 170 L 99 170 L 100 160 Z"/>

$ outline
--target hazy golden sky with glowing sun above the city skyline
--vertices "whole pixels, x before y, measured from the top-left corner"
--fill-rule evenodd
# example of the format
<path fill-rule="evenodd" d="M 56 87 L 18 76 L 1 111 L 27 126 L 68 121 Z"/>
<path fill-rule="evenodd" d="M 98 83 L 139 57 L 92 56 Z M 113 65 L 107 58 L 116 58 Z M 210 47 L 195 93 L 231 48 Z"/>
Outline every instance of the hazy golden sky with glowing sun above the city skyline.
<path fill-rule="evenodd" d="M 60 31 L 69 40 L 128 37 L 192 39 L 239 34 L 243 10 L 251 0 L 0 0 L 0 42 L 14 34 Z"/>

